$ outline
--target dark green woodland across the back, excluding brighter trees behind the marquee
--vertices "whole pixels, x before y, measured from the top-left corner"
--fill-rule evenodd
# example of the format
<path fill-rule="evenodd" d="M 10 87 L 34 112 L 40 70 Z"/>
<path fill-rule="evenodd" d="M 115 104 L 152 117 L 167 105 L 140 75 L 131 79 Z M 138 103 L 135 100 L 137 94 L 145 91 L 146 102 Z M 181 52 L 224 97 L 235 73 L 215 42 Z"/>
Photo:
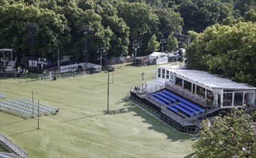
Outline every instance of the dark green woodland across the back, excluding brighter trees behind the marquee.
<path fill-rule="evenodd" d="M 140 55 L 147 52 L 153 34 L 160 40 L 173 32 L 202 32 L 225 18 L 244 16 L 255 21 L 245 15 L 255 5 L 253 0 L 1 0 L 0 4 L 0 47 L 17 50 L 18 57 L 33 52 L 52 61 L 57 60 L 58 47 L 60 55 L 81 60 L 88 49 L 89 60 L 95 60 L 100 44 L 107 56 L 119 57 L 131 55 L 132 43 L 138 40 Z M 37 24 L 35 50 L 24 22 Z M 92 29 L 87 36 L 83 34 L 86 27 Z"/>

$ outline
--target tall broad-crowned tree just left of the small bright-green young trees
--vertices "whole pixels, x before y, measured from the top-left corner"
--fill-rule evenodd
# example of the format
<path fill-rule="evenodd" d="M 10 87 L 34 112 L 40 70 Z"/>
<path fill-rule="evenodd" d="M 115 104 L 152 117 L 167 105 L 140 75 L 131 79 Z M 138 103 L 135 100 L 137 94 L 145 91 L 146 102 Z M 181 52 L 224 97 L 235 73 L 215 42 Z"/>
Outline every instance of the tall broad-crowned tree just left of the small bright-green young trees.
<path fill-rule="evenodd" d="M 156 32 L 159 19 L 148 4 L 143 3 L 120 3 L 116 6 L 118 16 L 124 19 L 129 27 L 129 49 L 132 49 L 132 42 L 138 40 L 142 44 L 142 49 L 146 50 L 146 45 L 151 34 Z M 130 50 L 130 52 L 132 52 Z M 140 54 L 140 52 L 139 52 Z"/>

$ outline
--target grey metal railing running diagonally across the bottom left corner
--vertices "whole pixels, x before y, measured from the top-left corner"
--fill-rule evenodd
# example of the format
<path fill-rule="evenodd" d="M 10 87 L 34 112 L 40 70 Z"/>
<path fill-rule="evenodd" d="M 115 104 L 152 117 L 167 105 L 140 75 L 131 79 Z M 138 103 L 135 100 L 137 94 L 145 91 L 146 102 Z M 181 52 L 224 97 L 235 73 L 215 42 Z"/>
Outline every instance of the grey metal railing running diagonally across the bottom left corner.
<path fill-rule="evenodd" d="M 1 133 L 0 133 L 0 143 L 6 149 L 8 149 L 9 152 L 17 154 L 20 157 L 25 157 L 25 158 L 29 157 L 29 154 L 27 154 L 27 152 L 25 152 L 21 147 L 17 146 L 17 144 L 12 142 L 10 139 L 8 139 L 6 136 L 4 136 L 4 134 L 1 134 Z"/>

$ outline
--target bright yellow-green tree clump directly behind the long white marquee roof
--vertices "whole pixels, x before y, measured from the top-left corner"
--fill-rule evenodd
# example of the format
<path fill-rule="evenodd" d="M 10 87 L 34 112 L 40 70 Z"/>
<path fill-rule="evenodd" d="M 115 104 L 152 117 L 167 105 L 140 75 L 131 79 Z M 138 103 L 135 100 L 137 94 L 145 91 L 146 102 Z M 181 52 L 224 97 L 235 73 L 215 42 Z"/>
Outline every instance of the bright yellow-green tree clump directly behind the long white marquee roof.
<path fill-rule="evenodd" d="M 196 34 L 190 51 L 191 68 L 256 85 L 255 23 L 208 27 L 203 33 Z"/>

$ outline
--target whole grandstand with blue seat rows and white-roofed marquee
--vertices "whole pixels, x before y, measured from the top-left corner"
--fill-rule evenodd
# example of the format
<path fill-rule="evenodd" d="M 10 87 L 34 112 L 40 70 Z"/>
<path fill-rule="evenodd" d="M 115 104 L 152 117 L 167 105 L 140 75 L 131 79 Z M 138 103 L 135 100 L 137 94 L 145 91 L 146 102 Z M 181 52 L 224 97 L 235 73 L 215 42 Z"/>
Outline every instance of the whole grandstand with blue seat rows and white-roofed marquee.
<path fill-rule="evenodd" d="M 251 85 L 173 65 L 157 67 L 156 75 L 143 88 L 132 88 L 130 96 L 178 131 L 196 133 L 202 120 L 228 108 L 255 109 Z"/>

